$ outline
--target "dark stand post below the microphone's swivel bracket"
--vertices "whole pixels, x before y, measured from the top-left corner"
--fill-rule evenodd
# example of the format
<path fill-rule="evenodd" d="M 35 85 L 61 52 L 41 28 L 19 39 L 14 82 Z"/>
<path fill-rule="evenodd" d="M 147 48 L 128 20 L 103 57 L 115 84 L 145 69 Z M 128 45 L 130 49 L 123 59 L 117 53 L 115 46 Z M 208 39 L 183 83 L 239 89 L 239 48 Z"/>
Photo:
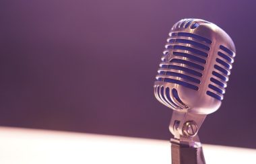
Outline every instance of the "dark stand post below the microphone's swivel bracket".
<path fill-rule="evenodd" d="M 172 164 L 205 164 L 202 147 L 171 142 Z"/>

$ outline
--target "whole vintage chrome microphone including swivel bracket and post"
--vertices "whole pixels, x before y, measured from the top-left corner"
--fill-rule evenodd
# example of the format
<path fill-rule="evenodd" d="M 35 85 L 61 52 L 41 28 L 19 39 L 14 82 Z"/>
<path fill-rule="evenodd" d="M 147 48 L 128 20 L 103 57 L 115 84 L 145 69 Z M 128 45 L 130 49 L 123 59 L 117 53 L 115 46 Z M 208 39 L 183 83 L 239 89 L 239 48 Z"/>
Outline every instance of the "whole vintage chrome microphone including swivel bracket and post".
<path fill-rule="evenodd" d="M 205 163 L 197 132 L 220 108 L 235 47 L 224 30 L 202 19 L 181 19 L 170 30 L 154 95 L 173 111 L 172 164 Z"/>

